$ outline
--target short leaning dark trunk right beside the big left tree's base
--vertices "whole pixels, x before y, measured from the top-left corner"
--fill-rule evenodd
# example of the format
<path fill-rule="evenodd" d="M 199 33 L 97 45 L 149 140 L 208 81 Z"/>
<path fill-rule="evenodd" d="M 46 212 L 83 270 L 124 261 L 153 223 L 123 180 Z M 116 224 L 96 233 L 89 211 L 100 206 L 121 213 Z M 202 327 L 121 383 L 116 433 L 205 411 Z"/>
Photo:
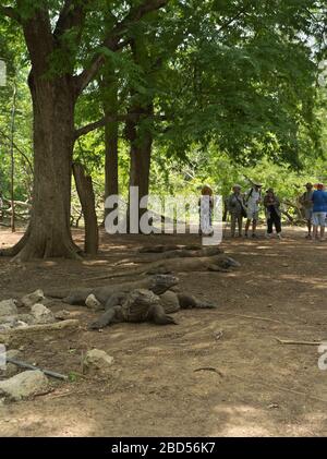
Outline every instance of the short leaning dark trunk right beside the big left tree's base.
<path fill-rule="evenodd" d="M 99 249 L 99 230 L 92 178 L 85 174 L 84 167 L 77 162 L 73 164 L 73 173 L 85 224 L 84 251 L 96 255 Z"/>

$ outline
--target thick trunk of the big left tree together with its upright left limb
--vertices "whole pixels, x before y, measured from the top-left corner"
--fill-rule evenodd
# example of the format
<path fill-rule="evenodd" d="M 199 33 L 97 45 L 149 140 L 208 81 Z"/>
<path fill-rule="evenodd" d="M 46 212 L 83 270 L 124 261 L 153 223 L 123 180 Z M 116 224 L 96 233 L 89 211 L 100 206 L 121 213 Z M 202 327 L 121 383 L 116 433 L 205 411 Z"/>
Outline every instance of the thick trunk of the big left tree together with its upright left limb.
<path fill-rule="evenodd" d="M 32 61 L 28 85 L 34 116 L 34 189 L 32 215 L 23 239 L 10 251 L 19 259 L 77 257 L 70 229 L 74 78 L 55 70 L 58 50 L 46 3 L 22 20 Z M 51 67 L 52 65 L 52 67 Z"/>

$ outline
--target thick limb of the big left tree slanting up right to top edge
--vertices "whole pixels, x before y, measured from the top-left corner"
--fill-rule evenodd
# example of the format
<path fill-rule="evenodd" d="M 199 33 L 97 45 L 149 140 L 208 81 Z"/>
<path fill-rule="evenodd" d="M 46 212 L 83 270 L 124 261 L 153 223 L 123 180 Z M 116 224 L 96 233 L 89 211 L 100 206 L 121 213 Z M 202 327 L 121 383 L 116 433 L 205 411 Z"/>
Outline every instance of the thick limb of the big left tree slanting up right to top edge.
<path fill-rule="evenodd" d="M 126 32 L 129 25 L 137 23 L 145 14 L 159 10 L 165 7 L 170 0 L 146 0 L 141 7 L 135 10 L 131 10 L 130 13 L 116 25 L 111 33 L 105 38 L 102 47 L 110 49 L 111 51 L 118 51 L 123 48 L 128 41 L 121 41 L 121 36 Z M 81 94 L 83 89 L 92 82 L 96 76 L 101 65 L 105 62 L 104 56 L 96 56 L 89 67 L 85 69 L 80 75 L 75 76 L 75 84 L 77 94 Z"/>

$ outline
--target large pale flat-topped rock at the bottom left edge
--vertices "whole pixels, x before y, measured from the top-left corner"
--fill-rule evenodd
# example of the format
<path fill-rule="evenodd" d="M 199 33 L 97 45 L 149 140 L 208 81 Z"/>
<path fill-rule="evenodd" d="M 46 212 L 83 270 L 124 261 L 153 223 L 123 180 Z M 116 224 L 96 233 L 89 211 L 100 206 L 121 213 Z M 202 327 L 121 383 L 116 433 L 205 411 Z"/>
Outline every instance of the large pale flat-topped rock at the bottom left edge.
<path fill-rule="evenodd" d="M 48 386 L 47 376 L 39 370 L 33 370 L 0 382 L 0 395 L 16 401 L 43 394 L 48 389 Z"/>

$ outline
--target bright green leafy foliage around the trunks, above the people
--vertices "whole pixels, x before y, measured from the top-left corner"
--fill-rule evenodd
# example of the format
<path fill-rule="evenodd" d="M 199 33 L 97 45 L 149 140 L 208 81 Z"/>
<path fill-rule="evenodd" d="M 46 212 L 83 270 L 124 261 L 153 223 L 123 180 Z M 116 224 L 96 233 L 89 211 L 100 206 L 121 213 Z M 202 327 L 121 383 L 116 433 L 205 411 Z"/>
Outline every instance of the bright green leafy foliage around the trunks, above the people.
<path fill-rule="evenodd" d="M 316 85 L 317 63 L 326 56 L 324 2 L 171 0 L 164 11 L 129 24 L 121 32 L 128 45 L 119 52 L 104 46 L 117 22 L 142 3 L 75 1 L 86 9 L 85 21 L 56 37 L 47 77 L 76 75 L 95 57 L 105 59 L 78 98 L 76 126 L 104 117 L 111 88 L 101 83 L 109 73 L 119 95 L 109 107 L 113 112 L 123 116 L 131 107 L 154 105 L 154 119 L 141 117 L 137 126 L 141 136 L 152 131 L 155 138 L 153 192 L 194 192 L 208 182 L 226 195 L 233 182 L 247 188 L 249 179 L 255 178 L 281 196 L 294 196 L 305 181 L 325 178 L 326 90 Z M 47 9 L 52 28 L 63 4 L 63 0 L 8 2 L 24 21 Z M 0 132 L 10 132 L 15 80 L 14 141 L 32 161 L 27 51 L 19 25 L 1 14 L 0 56 L 9 68 L 9 84 L 0 88 Z M 120 190 L 126 195 L 129 145 L 123 123 L 119 134 Z M 104 129 L 94 131 L 76 142 L 74 152 L 94 179 L 99 209 L 104 137 Z M 1 186 L 8 195 L 9 145 L 1 134 L 0 155 Z M 33 178 L 17 150 L 15 160 L 15 196 L 23 200 L 31 196 Z M 75 194 L 73 205 L 77 206 Z"/>

